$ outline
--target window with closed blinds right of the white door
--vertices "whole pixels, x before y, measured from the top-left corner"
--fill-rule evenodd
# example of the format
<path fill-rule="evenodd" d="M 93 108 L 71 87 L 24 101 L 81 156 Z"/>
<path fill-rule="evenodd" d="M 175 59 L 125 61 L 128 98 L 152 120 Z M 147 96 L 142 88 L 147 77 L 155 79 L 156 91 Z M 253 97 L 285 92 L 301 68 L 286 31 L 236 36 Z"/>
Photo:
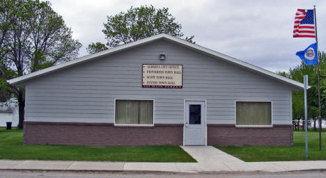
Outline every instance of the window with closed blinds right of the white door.
<path fill-rule="evenodd" d="M 236 125 L 272 125 L 271 102 L 236 102 Z"/>

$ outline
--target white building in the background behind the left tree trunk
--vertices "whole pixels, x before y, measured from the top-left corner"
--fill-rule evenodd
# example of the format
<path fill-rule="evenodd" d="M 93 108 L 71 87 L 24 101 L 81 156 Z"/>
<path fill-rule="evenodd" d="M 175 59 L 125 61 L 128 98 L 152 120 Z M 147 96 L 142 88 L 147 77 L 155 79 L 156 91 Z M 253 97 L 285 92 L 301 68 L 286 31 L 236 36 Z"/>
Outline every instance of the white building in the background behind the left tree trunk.
<path fill-rule="evenodd" d="M 17 127 L 19 122 L 18 104 L 15 99 L 0 102 L 0 127 L 6 127 L 6 122 L 12 122 L 12 127 Z"/>

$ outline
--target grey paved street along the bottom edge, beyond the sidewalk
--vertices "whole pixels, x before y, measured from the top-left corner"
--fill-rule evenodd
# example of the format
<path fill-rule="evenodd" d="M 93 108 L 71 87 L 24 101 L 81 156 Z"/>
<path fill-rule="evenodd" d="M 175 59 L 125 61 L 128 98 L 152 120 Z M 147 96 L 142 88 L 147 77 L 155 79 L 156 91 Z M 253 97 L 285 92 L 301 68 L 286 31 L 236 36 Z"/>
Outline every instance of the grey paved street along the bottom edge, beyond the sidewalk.
<path fill-rule="evenodd" d="M 121 173 L 121 172 L 19 172 L 19 171 L 0 171 L 0 177 L 6 178 L 150 178 L 150 177 L 158 177 L 158 178 L 181 178 L 181 177 L 190 177 L 190 178 L 211 178 L 211 177 L 235 177 L 235 178 L 302 178 L 302 177 L 320 177 L 326 178 L 326 172 L 283 172 L 283 173 L 237 173 L 237 174 L 169 174 L 169 173 L 150 173 L 150 174 L 142 174 L 142 173 Z"/>

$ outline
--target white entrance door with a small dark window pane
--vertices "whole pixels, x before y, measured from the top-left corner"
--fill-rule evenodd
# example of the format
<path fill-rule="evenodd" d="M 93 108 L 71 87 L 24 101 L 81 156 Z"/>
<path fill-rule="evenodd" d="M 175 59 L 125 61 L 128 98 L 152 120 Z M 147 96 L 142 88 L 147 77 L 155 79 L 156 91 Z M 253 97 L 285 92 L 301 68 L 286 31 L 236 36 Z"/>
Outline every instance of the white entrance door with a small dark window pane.
<path fill-rule="evenodd" d="M 205 102 L 185 101 L 185 145 L 205 145 Z"/>

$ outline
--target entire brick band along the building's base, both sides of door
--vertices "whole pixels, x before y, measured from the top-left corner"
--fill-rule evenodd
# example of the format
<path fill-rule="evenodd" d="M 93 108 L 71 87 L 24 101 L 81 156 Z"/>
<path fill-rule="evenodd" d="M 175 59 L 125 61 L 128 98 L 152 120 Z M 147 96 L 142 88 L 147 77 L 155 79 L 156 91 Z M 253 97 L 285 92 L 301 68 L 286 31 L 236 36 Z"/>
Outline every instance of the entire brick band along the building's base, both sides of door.
<path fill-rule="evenodd" d="M 235 127 L 208 124 L 208 145 L 293 145 L 292 125 Z M 24 122 L 27 145 L 183 145 L 183 124 L 154 127 L 114 126 L 110 123 Z"/>

